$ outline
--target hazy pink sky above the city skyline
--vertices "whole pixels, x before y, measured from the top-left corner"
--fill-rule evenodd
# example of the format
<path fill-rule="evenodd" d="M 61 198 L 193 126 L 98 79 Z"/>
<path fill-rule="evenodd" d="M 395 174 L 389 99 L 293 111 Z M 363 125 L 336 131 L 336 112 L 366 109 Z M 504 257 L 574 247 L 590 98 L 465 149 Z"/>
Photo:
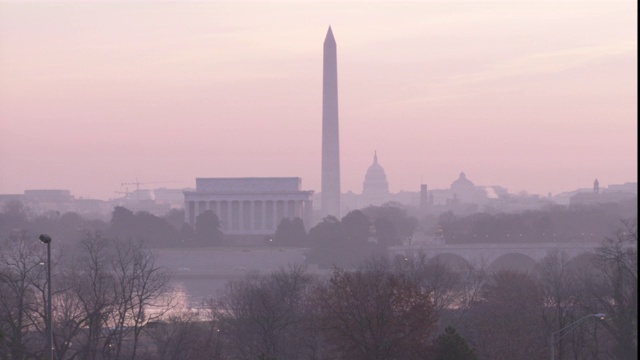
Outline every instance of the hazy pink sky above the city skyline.
<path fill-rule="evenodd" d="M 637 181 L 637 24 L 635 0 L 0 0 L 0 193 L 319 191 L 329 25 L 343 191 L 374 150 L 392 192 Z"/>

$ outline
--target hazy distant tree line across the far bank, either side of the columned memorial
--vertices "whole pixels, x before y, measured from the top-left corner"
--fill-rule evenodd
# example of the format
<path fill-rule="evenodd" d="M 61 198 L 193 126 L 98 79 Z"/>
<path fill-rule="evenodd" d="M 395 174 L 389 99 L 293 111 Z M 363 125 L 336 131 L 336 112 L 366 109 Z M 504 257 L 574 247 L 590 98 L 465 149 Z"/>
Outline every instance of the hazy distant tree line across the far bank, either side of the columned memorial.
<path fill-rule="evenodd" d="M 615 231 L 619 219 L 632 217 L 637 217 L 637 199 L 617 204 L 554 205 L 520 213 L 459 216 L 446 212 L 425 215 L 420 221 L 402 205 L 388 203 L 352 211 L 342 219 L 322 219 L 308 234 L 302 219 L 284 218 L 265 242 L 274 246 L 313 247 L 312 258 L 322 265 L 344 254 L 345 259 L 339 260 L 339 264 L 348 266 L 360 261 L 362 254 L 368 256 L 380 248 L 410 240 L 416 231 L 441 236 L 450 244 L 596 242 Z M 156 216 L 118 206 L 105 222 L 85 219 L 73 212 L 32 214 L 22 203 L 13 201 L 0 211 L 0 238 L 16 229 L 47 233 L 67 244 L 79 243 L 86 231 L 99 230 L 107 237 L 142 239 L 156 248 L 233 245 L 225 238 L 218 216 L 210 210 L 199 214 L 192 227 L 184 222 L 184 211 L 179 209 Z M 322 248 L 326 242 L 337 244 L 338 248 L 332 246 L 334 253 Z M 349 253 L 353 253 L 355 260 L 346 256 Z"/>

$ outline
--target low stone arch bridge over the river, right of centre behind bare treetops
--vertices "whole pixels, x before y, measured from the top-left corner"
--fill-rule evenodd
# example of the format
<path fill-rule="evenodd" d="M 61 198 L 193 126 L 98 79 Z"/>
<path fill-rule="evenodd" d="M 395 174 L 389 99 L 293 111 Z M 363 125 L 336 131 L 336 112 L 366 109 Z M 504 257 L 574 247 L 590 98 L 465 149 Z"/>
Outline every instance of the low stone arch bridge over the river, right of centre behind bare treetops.
<path fill-rule="evenodd" d="M 530 243 L 530 244 L 421 244 L 396 246 L 389 249 L 392 256 L 413 257 L 424 254 L 430 261 L 454 266 L 483 267 L 489 272 L 503 268 L 531 270 L 545 256 L 564 253 L 569 261 L 593 256 L 601 242 Z"/>

